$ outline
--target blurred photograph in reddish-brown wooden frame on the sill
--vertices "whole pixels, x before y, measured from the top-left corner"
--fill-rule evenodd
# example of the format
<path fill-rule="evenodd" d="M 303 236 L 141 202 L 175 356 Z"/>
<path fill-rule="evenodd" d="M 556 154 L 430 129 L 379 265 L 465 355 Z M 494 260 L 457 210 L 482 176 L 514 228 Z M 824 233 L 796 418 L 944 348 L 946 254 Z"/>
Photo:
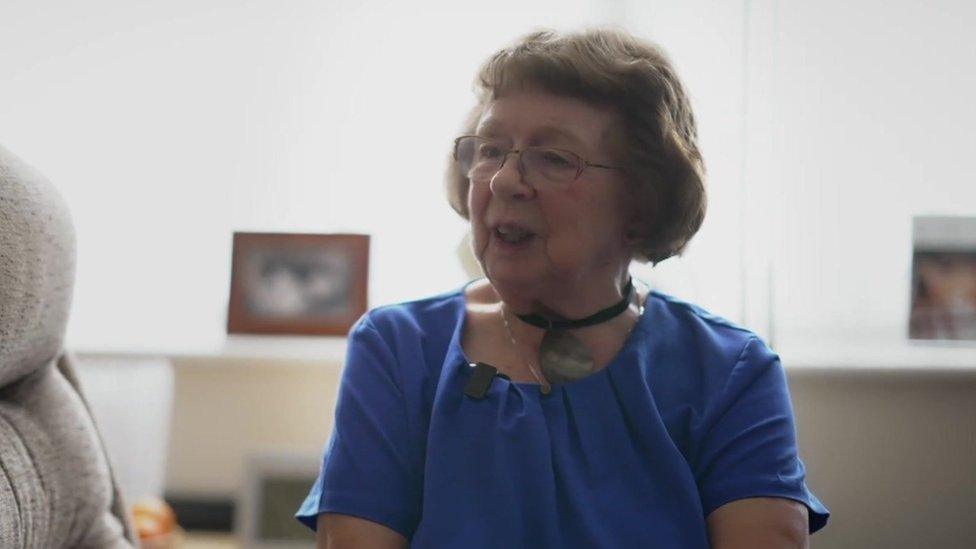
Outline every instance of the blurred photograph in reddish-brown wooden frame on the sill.
<path fill-rule="evenodd" d="M 227 333 L 346 335 L 368 270 L 369 235 L 235 232 Z"/>

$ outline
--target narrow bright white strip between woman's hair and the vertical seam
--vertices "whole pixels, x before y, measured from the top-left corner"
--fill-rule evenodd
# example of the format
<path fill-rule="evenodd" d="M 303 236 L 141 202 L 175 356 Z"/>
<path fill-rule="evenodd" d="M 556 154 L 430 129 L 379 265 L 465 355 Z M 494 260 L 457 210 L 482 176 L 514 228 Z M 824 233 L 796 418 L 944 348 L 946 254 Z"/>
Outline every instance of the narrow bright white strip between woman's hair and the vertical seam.
<path fill-rule="evenodd" d="M 708 213 L 685 254 L 634 272 L 657 288 L 712 312 L 748 322 L 746 303 L 764 292 L 746 288 L 742 254 L 744 16 L 739 2 L 625 2 L 626 27 L 669 53 L 691 96 L 707 170 Z"/>

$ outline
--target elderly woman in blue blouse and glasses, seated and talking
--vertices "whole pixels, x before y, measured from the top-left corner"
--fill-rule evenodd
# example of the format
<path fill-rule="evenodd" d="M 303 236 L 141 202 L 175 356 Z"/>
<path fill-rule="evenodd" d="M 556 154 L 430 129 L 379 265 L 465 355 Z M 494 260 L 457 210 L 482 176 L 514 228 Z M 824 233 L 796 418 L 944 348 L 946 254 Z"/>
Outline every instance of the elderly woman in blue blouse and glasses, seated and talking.
<path fill-rule="evenodd" d="M 366 314 L 298 518 L 319 547 L 804 547 L 779 358 L 635 284 L 705 212 L 657 47 L 538 32 L 492 56 L 449 201 L 485 278 Z"/>

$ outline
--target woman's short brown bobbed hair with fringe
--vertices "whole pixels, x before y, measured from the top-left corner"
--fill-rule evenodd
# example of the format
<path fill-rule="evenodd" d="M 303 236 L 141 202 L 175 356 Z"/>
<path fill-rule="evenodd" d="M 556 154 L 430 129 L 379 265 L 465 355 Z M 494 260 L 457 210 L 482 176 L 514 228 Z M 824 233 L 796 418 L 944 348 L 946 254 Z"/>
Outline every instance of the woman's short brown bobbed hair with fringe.
<path fill-rule="evenodd" d="M 474 133 L 489 102 L 520 87 L 620 113 L 623 168 L 640 205 L 634 259 L 656 264 L 680 254 L 705 218 L 705 168 L 688 96 L 664 51 L 616 29 L 533 32 L 482 65 L 463 133 Z M 448 201 L 465 219 L 469 185 L 451 161 Z"/>

